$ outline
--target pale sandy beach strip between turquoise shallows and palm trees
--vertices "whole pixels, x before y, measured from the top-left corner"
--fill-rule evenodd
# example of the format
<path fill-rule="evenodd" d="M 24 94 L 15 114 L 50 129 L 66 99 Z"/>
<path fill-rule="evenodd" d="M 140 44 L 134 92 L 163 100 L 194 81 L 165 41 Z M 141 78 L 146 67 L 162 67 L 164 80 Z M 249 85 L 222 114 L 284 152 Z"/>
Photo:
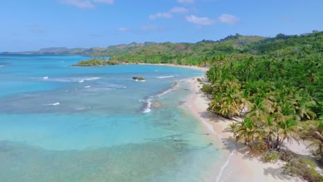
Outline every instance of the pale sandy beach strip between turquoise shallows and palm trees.
<path fill-rule="evenodd" d="M 199 90 L 201 86 L 195 79 L 187 79 L 192 94 L 186 106 L 192 114 L 201 121 L 201 125 L 210 133 L 215 145 L 222 148 L 226 162 L 215 167 L 215 172 L 206 181 L 299 181 L 291 176 L 282 174 L 282 162 L 262 163 L 248 155 L 248 148 L 242 143 L 235 143 L 233 134 L 225 132 L 228 123 L 233 122 L 206 112 L 208 99 Z M 220 142 L 219 142 L 220 141 Z"/>

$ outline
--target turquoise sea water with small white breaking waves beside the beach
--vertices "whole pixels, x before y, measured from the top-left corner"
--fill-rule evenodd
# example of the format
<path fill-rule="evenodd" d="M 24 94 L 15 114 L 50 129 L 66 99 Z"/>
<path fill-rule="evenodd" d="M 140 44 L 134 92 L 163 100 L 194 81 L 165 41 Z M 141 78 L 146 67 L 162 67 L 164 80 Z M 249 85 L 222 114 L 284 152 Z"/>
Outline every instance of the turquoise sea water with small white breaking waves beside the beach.
<path fill-rule="evenodd" d="M 222 154 L 181 81 L 202 72 L 83 59 L 0 54 L 1 181 L 203 181 Z"/>

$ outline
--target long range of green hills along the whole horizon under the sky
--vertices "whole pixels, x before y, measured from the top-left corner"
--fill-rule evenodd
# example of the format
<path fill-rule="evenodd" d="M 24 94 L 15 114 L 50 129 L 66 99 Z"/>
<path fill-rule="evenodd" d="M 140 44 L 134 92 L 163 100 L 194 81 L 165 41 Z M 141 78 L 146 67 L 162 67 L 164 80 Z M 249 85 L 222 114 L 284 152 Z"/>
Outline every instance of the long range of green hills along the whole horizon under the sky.
<path fill-rule="evenodd" d="M 204 59 L 219 55 L 242 57 L 251 55 L 302 57 L 304 52 L 323 52 L 323 32 L 285 35 L 276 37 L 229 35 L 219 41 L 202 40 L 197 43 L 129 43 L 110 45 L 107 48 L 42 48 L 31 52 L 9 52 L 30 54 L 81 54 L 93 57 L 111 57 L 112 60 L 134 63 L 199 64 Z M 7 52 L 8 53 L 8 52 Z"/>

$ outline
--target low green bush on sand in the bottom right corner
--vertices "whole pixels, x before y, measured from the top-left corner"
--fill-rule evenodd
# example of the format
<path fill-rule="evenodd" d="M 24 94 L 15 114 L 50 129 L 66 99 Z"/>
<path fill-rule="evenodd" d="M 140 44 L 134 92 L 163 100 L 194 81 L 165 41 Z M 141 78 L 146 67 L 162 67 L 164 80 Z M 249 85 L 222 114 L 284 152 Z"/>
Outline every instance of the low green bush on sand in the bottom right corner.
<path fill-rule="evenodd" d="M 315 163 L 309 159 L 292 159 L 284 165 L 284 172 L 291 176 L 300 176 L 307 181 L 323 181 L 323 176 L 315 170 Z"/>

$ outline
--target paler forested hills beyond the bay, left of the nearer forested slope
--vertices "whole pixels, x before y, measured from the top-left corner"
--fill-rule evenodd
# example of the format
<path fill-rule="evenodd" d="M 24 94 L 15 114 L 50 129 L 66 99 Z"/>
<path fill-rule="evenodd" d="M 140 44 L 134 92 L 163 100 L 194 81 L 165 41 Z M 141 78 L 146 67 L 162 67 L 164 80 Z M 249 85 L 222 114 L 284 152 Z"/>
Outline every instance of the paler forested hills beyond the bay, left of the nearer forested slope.
<path fill-rule="evenodd" d="M 92 55 L 108 55 L 111 60 L 130 63 L 173 63 L 179 65 L 201 65 L 217 54 L 239 54 L 246 45 L 264 37 L 236 34 L 220 41 L 199 41 L 197 43 L 130 43 L 115 45 Z M 246 54 L 246 53 L 244 53 Z"/>

